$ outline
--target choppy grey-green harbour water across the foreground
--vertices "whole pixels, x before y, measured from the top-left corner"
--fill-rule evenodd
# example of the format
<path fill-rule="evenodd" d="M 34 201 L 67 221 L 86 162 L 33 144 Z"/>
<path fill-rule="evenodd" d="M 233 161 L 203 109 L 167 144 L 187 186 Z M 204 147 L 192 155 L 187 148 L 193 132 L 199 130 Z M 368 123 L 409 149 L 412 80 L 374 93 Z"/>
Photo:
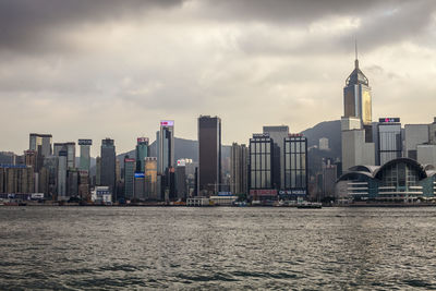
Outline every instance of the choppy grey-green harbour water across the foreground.
<path fill-rule="evenodd" d="M 436 208 L 0 207 L 0 290 L 436 289 Z"/>

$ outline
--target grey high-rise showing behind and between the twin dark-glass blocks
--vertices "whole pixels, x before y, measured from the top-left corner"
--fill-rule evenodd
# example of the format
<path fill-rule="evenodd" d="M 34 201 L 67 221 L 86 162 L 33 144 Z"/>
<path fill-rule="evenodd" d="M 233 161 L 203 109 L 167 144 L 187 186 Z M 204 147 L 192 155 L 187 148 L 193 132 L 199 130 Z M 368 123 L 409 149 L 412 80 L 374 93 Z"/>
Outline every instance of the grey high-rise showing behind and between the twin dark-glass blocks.
<path fill-rule="evenodd" d="M 269 137 L 272 138 L 274 146 L 276 150 L 274 150 L 274 175 L 272 183 L 276 189 L 283 189 L 284 186 L 284 154 L 283 154 L 283 141 L 288 137 L 289 126 L 287 125 L 278 125 L 278 126 L 264 126 L 264 133 L 269 134 Z"/>

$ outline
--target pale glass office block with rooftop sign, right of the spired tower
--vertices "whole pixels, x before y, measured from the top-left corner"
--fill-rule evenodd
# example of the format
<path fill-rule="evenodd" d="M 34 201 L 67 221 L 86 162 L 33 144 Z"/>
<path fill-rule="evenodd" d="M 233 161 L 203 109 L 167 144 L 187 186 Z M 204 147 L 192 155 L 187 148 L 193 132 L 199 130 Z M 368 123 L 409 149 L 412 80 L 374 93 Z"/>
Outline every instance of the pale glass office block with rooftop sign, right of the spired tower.
<path fill-rule="evenodd" d="M 402 155 L 401 123 L 399 118 L 380 118 L 377 123 L 376 165 L 385 165 Z"/>

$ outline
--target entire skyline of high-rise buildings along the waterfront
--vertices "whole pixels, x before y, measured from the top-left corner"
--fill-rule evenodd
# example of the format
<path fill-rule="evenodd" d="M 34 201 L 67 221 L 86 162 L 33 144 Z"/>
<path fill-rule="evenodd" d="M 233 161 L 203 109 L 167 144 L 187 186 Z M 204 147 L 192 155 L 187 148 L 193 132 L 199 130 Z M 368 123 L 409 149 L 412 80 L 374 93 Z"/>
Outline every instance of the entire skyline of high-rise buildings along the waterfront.
<path fill-rule="evenodd" d="M 301 133 L 290 133 L 287 125 L 264 126 L 247 144 L 231 145 L 228 174 L 218 117 L 197 120 L 197 159 L 175 159 L 173 120 L 160 121 L 156 150 L 150 150 L 148 137 L 137 137 L 134 154 L 120 158 L 114 141 L 102 140 L 95 165 L 92 140 L 53 143 L 51 134 L 31 133 L 23 156 L 3 153 L 0 157 L 0 197 L 37 193 L 53 201 L 192 199 L 193 204 L 208 198 L 225 204 L 237 198 L 262 204 L 307 198 L 348 203 L 433 198 L 436 119 L 404 126 L 400 118 L 373 122 L 372 88 L 358 59 L 343 88 L 340 124 L 340 158 L 310 159 L 313 147 L 308 148 Z M 329 140 L 319 138 L 315 148 L 328 153 Z M 310 171 L 310 162 L 315 171 Z"/>

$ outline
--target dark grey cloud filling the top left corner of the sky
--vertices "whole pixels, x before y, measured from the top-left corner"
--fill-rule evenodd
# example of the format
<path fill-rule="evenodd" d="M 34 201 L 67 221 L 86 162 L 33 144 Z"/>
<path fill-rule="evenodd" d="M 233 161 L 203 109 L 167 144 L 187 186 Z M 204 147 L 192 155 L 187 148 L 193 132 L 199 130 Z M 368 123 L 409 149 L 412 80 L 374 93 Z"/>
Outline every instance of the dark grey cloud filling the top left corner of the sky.
<path fill-rule="evenodd" d="M 72 26 L 143 15 L 180 3 L 181 0 L 0 0 L 0 50 L 50 49 L 62 45 L 62 32 Z"/>

